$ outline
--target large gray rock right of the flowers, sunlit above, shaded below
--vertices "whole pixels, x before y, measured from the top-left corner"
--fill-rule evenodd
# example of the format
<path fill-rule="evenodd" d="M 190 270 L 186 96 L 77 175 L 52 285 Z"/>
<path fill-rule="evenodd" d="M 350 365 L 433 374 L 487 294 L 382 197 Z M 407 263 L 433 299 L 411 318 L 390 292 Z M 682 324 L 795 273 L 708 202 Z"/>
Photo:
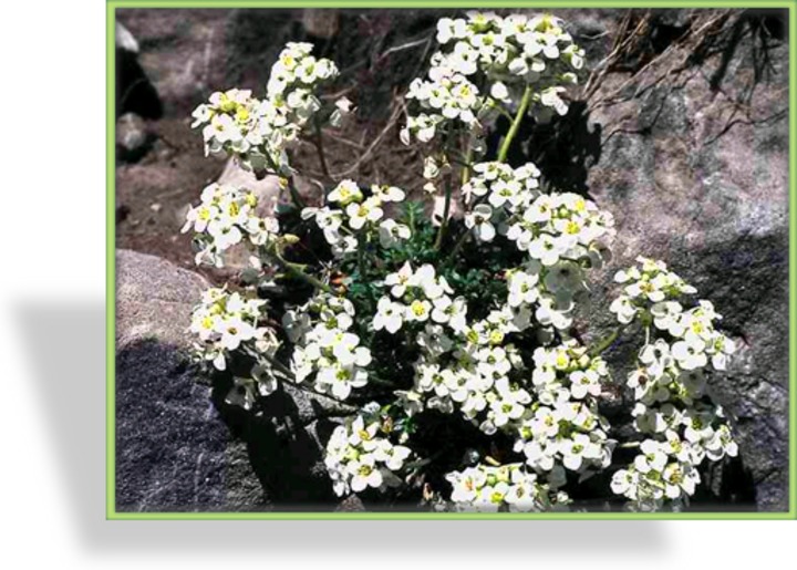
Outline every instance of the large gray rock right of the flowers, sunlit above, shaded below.
<path fill-rule="evenodd" d="M 587 187 L 614 214 L 618 239 L 611 267 L 594 276 L 589 317 L 593 339 L 608 333 L 611 276 L 639 255 L 664 260 L 712 300 L 742 345 L 712 380 L 715 400 L 758 508 L 787 510 L 788 48 L 762 40 L 756 25 L 737 14 L 717 34 L 716 55 L 662 80 L 691 55 L 673 50 L 631 81 L 609 74 L 590 101 L 589 129 L 601 141 Z M 608 353 L 618 379 L 635 350 L 619 342 Z"/>

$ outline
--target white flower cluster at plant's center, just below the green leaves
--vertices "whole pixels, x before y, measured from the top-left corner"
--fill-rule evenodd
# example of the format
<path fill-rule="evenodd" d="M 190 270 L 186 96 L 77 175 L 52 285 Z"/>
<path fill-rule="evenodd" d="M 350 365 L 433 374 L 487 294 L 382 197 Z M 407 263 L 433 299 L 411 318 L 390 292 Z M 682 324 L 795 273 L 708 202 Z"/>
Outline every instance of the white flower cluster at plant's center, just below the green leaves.
<path fill-rule="evenodd" d="M 390 296 L 379 300 L 373 328 L 394 334 L 404 323 L 432 322 L 447 324 L 455 331 L 465 327 L 467 307 L 463 298 L 452 299 L 454 293 L 445 277 L 436 276 L 431 265 L 413 271 L 407 261 L 384 280 Z"/>

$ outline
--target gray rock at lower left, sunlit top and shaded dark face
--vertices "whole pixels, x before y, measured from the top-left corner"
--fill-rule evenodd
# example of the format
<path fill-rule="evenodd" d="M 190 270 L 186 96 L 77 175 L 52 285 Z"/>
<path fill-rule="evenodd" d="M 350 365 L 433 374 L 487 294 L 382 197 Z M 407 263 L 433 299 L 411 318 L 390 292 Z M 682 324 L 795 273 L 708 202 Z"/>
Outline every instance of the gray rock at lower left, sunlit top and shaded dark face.
<path fill-rule="evenodd" d="M 267 507 L 245 444 L 188 365 L 187 328 L 204 278 L 163 259 L 116 253 L 116 508 Z"/>

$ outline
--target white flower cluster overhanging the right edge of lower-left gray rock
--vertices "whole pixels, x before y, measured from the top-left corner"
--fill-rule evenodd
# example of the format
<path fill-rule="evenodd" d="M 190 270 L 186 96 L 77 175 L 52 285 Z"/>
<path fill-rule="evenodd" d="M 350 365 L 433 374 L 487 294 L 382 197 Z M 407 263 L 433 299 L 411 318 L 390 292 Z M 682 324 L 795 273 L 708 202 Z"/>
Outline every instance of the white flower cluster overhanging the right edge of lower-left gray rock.
<path fill-rule="evenodd" d="M 192 314 L 190 332 L 196 334 L 197 355 L 213 361 L 217 370 L 227 367 L 227 357 L 241 346 L 256 354 L 273 355 L 279 348 L 276 333 L 259 325 L 266 301 L 245 299 L 226 289 L 210 288 Z"/>

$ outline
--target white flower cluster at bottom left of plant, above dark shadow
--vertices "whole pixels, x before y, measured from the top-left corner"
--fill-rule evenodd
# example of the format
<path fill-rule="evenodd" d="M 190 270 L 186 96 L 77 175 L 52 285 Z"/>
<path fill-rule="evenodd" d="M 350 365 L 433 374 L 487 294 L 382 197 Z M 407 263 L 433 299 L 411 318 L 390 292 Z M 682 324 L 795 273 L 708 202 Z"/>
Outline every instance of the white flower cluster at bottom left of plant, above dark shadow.
<path fill-rule="evenodd" d="M 365 411 L 369 407 L 379 410 L 379 404 Z M 379 418 L 371 416 L 358 415 L 335 427 L 327 444 L 324 464 L 339 496 L 368 488 L 384 491 L 401 484 L 396 471 L 404 467 L 410 448 L 391 443 Z"/>

